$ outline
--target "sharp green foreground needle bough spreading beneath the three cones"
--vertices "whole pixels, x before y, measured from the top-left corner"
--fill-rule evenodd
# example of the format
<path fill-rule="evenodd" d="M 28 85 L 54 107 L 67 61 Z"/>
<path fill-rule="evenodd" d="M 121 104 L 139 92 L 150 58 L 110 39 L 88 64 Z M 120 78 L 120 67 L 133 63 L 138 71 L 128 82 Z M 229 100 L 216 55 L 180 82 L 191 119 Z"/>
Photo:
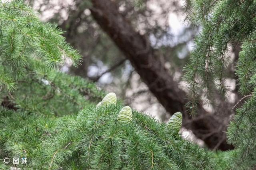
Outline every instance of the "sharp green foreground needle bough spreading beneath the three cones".
<path fill-rule="evenodd" d="M 206 150 L 174 139 L 164 123 L 137 111 L 118 123 L 121 109 L 91 106 L 60 118 L 2 109 L 0 148 L 10 158 L 26 151 L 27 169 L 214 169 Z"/>

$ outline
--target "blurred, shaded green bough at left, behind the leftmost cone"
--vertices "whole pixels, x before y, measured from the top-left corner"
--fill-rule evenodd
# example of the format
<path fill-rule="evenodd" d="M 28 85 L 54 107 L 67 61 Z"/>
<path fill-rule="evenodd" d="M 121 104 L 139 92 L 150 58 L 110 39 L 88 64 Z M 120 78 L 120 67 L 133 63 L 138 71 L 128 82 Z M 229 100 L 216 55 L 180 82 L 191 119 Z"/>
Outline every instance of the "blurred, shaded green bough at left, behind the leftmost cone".
<path fill-rule="evenodd" d="M 77 76 L 49 70 L 39 61 L 30 61 L 26 78 L 19 80 L 17 90 L 9 93 L 2 88 L 0 102 L 8 101 L 9 107 L 48 116 L 74 113 L 101 100 L 104 92 L 92 83 Z"/>

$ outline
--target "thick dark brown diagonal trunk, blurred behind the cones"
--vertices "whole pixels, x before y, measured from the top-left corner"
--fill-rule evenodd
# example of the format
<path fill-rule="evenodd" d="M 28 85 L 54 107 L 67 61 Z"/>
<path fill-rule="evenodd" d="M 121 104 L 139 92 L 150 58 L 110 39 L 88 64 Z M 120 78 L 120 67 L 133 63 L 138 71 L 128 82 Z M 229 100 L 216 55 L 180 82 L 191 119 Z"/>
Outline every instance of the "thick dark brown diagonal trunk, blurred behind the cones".
<path fill-rule="evenodd" d="M 178 87 L 164 66 L 164 59 L 157 56 L 148 38 L 136 32 L 119 12 L 113 0 L 91 0 L 90 11 L 100 27 L 109 35 L 119 49 L 130 60 L 149 90 L 172 115 L 180 111 L 184 115 L 183 125 L 191 129 L 211 149 L 228 150 L 232 146 L 226 143 L 227 122 L 223 117 L 208 113 L 202 104 L 195 118 L 186 111 L 186 93 Z M 231 113 L 224 114 L 227 120 Z"/>

